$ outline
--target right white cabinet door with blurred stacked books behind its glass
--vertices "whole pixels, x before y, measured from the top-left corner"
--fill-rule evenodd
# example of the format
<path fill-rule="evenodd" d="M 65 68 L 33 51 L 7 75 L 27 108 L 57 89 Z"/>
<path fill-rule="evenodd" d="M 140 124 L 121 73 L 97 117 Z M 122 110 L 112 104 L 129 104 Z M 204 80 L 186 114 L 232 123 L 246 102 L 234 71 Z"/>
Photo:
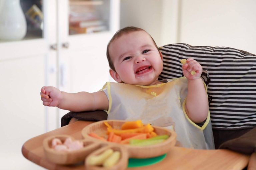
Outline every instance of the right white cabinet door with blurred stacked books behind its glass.
<path fill-rule="evenodd" d="M 59 88 L 96 92 L 111 80 L 106 47 L 119 28 L 119 1 L 59 1 L 59 8 Z"/>

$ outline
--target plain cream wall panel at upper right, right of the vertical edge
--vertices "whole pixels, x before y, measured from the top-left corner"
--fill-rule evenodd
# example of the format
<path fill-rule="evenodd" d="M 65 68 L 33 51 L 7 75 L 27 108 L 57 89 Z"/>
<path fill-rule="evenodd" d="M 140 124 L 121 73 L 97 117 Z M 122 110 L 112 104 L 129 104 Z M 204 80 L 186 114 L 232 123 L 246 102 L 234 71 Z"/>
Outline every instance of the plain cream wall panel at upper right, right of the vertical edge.
<path fill-rule="evenodd" d="M 256 54 L 255 0 L 182 0 L 179 42 Z"/>

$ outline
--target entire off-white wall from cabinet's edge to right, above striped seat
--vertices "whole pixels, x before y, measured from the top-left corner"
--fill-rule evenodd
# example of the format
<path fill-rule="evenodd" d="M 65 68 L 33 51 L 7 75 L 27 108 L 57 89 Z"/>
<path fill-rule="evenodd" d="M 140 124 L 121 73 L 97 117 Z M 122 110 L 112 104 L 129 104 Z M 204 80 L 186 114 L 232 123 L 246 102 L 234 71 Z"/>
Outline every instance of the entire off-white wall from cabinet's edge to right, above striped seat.
<path fill-rule="evenodd" d="M 121 0 L 121 28 L 145 29 L 158 46 L 228 46 L 256 54 L 255 0 Z"/>

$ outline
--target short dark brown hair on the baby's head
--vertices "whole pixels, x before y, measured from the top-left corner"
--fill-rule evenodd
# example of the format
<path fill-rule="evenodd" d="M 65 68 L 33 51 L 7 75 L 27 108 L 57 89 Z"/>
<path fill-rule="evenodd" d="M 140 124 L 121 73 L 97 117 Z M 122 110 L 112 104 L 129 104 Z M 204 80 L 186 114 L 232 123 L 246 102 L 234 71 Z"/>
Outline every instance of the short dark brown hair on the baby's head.
<path fill-rule="evenodd" d="M 107 45 L 107 59 L 108 59 L 109 67 L 110 67 L 112 70 L 116 71 L 116 70 L 115 70 L 115 67 L 114 67 L 114 64 L 113 64 L 113 62 L 112 62 L 112 60 L 111 60 L 111 58 L 110 58 L 110 55 L 109 55 L 109 45 L 110 45 L 114 40 L 116 40 L 117 38 L 121 37 L 122 35 L 131 33 L 131 32 L 135 32 L 135 31 L 145 31 L 145 30 L 143 30 L 143 29 L 141 29 L 141 28 L 138 28 L 138 27 L 124 27 L 124 28 L 118 30 L 118 31 L 114 34 L 114 36 L 112 37 L 112 39 L 109 41 L 109 43 L 108 43 L 108 45 Z M 146 32 L 146 31 L 145 31 L 145 32 Z M 147 32 L 146 32 L 146 33 L 147 33 Z M 149 35 L 149 34 L 148 34 L 148 35 Z M 149 35 L 149 36 L 150 36 L 150 35 Z M 151 36 L 150 36 L 150 37 L 151 37 Z M 154 40 L 152 37 L 151 37 L 151 39 L 153 40 L 153 42 L 154 42 L 156 48 L 158 49 L 158 46 L 156 45 L 155 40 Z M 159 49 L 158 49 L 158 50 L 159 50 Z"/>

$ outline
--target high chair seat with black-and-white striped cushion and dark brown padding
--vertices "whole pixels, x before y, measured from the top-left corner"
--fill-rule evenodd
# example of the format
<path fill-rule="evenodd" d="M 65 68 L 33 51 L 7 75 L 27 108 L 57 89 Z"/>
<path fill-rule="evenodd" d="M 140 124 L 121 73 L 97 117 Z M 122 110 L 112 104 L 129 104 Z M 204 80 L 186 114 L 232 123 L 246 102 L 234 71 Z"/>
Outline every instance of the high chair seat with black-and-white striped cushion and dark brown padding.
<path fill-rule="evenodd" d="M 182 77 L 181 59 L 192 57 L 202 65 L 201 78 L 207 85 L 215 147 L 255 154 L 256 55 L 229 47 L 185 43 L 164 45 L 159 50 L 164 63 L 160 80 Z M 107 113 L 69 112 L 62 117 L 61 126 L 71 118 L 101 121 L 107 119 Z"/>

